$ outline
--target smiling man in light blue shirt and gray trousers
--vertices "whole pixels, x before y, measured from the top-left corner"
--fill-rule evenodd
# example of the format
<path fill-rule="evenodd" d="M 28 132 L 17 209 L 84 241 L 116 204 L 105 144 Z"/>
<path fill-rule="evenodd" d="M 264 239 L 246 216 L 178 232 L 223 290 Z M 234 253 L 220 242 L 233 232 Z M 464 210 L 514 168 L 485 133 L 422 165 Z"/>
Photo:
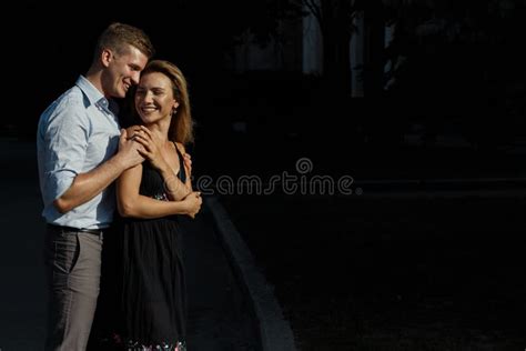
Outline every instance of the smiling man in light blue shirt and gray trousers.
<path fill-rule="evenodd" d="M 153 56 L 140 29 L 112 23 L 99 38 L 85 76 L 55 100 L 38 127 L 47 225 L 47 350 L 85 350 L 100 287 L 102 234 L 115 208 L 112 182 L 143 161 L 120 131 L 117 103 Z"/>

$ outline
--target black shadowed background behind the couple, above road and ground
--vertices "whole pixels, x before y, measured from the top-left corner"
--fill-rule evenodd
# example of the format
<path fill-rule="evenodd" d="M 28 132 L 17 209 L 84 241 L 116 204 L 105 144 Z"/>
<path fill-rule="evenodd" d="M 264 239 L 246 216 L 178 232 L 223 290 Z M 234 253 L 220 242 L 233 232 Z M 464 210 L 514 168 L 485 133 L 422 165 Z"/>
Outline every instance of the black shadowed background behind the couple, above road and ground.
<path fill-rule="evenodd" d="M 303 74 L 301 62 L 254 71 L 233 60 L 246 30 L 253 46 L 265 47 L 280 20 L 301 20 L 287 1 L 17 2 L 4 14 L 17 24 L 2 22 L 7 109 L 0 130 L 34 140 L 41 111 L 85 72 L 99 33 L 122 21 L 144 29 L 156 58 L 185 72 L 196 121 L 191 150 L 204 164 L 221 160 L 206 171 L 247 162 L 246 169 L 264 172 L 307 156 L 318 170 L 357 178 L 426 178 L 415 163 L 447 177 L 520 173 L 509 158 L 526 140 L 524 1 L 323 3 L 320 76 Z M 360 34 L 346 14 L 353 10 L 365 13 L 362 98 L 351 98 L 346 63 L 348 36 Z M 399 30 L 383 48 L 383 29 L 392 22 Z M 404 64 L 384 70 L 399 57 Z M 444 154 L 437 144 L 461 148 Z"/>

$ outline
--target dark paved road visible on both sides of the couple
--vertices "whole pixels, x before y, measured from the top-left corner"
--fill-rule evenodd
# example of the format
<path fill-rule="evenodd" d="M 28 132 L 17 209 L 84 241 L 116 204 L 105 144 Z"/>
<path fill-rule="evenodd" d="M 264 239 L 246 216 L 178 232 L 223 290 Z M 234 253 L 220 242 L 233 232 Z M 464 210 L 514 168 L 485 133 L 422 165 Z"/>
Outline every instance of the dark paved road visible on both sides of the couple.
<path fill-rule="evenodd" d="M 42 350 L 45 281 L 41 200 L 33 143 L 0 141 L 0 350 Z M 189 349 L 257 350 L 249 313 L 206 208 L 185 235 Z"/>

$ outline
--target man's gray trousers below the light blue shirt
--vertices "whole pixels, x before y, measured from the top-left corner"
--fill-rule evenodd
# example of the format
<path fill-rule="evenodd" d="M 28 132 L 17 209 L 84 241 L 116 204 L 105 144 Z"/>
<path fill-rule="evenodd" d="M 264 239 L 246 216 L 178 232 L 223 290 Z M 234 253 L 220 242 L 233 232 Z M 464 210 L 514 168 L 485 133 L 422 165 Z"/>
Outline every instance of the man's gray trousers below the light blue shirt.
<path fill-rule="evenodd" d="M 47 351 L 83 351 L 90 337 L 101 275 L 102 233 L 47 227 Z"/>

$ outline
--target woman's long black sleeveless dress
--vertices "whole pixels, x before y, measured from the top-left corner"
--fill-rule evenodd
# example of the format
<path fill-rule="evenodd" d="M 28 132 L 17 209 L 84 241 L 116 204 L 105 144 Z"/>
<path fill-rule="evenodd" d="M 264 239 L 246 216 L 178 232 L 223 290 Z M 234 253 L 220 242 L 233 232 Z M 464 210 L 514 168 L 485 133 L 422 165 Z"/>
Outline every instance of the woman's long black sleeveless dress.
<path fill-rule="evenodd" d="M 175 149 L 181 169 L 178 177 L 184 182 L 183 157 Z M 161 174 L 148 161 L 140 194 L 168 200 Z M 178 215 L 120 222 L 119 290 L 127 350 L 185 350 L 186 287 Z"/>

